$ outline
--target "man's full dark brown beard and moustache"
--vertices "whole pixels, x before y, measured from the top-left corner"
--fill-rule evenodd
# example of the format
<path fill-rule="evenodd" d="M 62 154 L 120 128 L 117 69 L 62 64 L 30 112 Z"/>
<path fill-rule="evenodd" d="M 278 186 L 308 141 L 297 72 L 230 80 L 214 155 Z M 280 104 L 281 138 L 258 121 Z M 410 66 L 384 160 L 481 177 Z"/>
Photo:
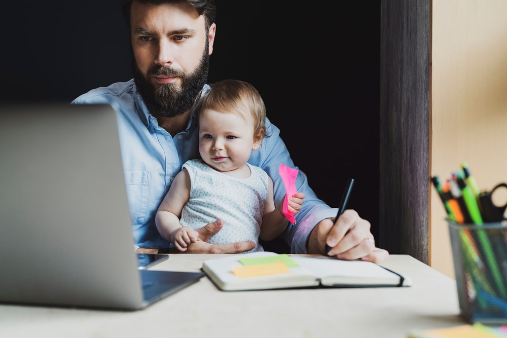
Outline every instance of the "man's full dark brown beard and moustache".
<path fill-rule="evenodd" d="M 201 62 L 193 73 L 185 74 L 170 66 L 156 66 L 148 70 L 144 77 L 132 58 L 134 82 L 152 115 L 172 118 L 184 114 L 191 109 L 208 78 L 209 54 L 208 47 L 204 49 Z M 148 79 L 153 75 L 165 75 L 179 77 L 182 85 L 177 84 L 152 84 Z"/>

